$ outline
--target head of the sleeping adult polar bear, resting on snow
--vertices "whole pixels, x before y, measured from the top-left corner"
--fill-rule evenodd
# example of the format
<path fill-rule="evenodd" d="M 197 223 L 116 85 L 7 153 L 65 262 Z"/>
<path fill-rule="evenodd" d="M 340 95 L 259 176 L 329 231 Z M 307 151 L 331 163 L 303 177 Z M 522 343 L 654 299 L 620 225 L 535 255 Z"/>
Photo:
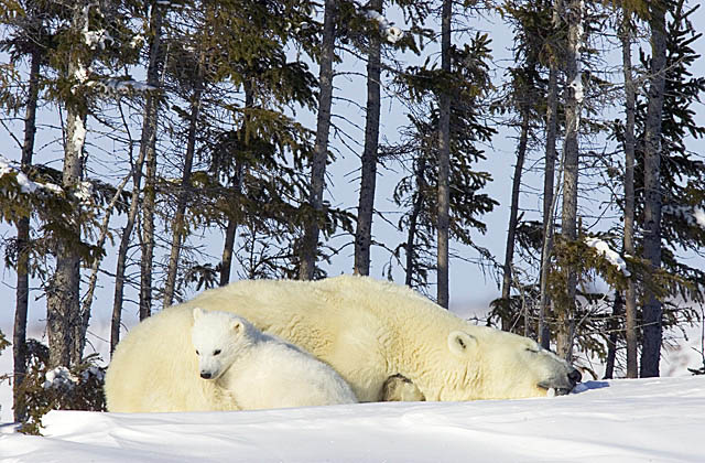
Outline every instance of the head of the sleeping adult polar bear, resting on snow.
<path fill-rule="evenodd" d="M 437 400 L 508 399 L 565 395 L 581 373 L 534 341 L 484 326 L 447 335 L 446 387 Z"/>

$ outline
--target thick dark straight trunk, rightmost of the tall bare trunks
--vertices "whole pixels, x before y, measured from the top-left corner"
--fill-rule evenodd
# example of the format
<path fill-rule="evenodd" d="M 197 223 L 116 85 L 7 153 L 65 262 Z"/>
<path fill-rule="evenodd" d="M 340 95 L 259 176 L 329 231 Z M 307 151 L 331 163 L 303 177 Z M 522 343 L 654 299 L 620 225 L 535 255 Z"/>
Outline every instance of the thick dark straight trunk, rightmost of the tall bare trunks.
<path fill-rule="evenodd" d="M 655 4 L 654 4 L 655 3 Z M 644 212 L 643 256 L 649 261 L 651 274 L 661 267 L 661 115 L 665 88 L 665 6 L 652 2 L 649 26 L 651 29 L 651 69 L 649 78 L 649 106 L 644 133 Z M 661 354 L 661 301 L 647 286 L 643 308 L 643 347 L 641 349 L 641 376 L 659 376 Z"/>

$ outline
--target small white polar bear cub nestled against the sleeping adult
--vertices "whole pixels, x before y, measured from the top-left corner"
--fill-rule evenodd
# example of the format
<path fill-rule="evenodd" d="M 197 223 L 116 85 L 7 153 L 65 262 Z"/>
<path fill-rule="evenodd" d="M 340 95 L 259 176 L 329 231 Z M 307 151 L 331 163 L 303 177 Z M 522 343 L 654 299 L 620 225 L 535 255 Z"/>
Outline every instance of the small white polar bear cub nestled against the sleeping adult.
<path fill-rule="evenodd" d="M 193 310 L 198 374 L 241 410 L 356 403 L 327 364 L 232 313 Z"/>

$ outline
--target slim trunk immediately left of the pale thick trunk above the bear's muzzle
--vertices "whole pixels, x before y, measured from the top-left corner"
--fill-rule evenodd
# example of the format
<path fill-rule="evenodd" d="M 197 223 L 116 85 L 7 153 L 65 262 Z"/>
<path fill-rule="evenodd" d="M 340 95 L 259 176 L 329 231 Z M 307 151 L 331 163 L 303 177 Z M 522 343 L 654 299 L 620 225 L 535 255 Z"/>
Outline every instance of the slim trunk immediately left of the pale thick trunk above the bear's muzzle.
<path fill-rule="evenodd" d="M 557 26 L 558 15 L 554 14 Z M 541 294 L 539 300 L 539 343 L 543 348 L 551 346 L 551 329 L 546 321 L 550 311 L 549 270 L 553 252 L 553 214 L 554 214 L 554 179 L 555 179 L 555 139 L 557 133 L 558 112 L 558 66 L 551 61 L 549 69 L 549 95 L 546 101 L 546 159 L 543 177 L 543 246 L 541 248 Z"/>

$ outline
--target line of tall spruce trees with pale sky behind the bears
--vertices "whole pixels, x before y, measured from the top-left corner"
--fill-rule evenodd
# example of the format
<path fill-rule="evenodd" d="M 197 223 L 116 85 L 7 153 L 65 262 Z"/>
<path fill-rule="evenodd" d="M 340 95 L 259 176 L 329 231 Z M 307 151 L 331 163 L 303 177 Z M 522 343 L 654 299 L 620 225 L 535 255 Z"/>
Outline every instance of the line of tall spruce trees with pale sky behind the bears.
<path fill-rule="evenodd" d="M 658 376 L 663 330 L 698 316 L 675 301 L 702 302 L 705 281 L 692 259 L 705 248 L 705 163 L 687 148 L 705 134 L 692 108 L 705 78 L 688 71 L 697 7 L 2 0 L 15 418 L 42 351 L 26 340 L 30 290 L 46 301 L 43 365 L 75 367 L 98 284 L 113 288 L 113 348 L 128 305 L 142 320 L 236 274 L 324 278 L 347 245 L 350 271 L 369 274 L 370 249 L 384 249 L 389 278 L 445 308 L 452 261 L 480 258 L 501 276 L 490 323 L 568 359 L 597 355 L 608 377 L 616 365 Z M 492 61 L 484 18 L 513 33 L 508 67 Z M 350 63 L 366 69 L 343 78 Z M 346 90 L 354 78 L 366 96 Z M 403 122 L 384 120 L 383 98 Z M 362 123 L 341 103 L 359 105 Z M 395 123 L 399 136 L 380 133 Z M 517 133 L 503 262 L 474 239 L 499 204 L 477 168 L 497 133 Z M 328 182 L 337 150 L 360 158 L 349 184 Z M 398 214 L 376 207 L 380 169 L 401 172 Z M 355 213 L 326 201 L 350 189 Z M 375 238 L 382 222 L 401 243 Z"/>

